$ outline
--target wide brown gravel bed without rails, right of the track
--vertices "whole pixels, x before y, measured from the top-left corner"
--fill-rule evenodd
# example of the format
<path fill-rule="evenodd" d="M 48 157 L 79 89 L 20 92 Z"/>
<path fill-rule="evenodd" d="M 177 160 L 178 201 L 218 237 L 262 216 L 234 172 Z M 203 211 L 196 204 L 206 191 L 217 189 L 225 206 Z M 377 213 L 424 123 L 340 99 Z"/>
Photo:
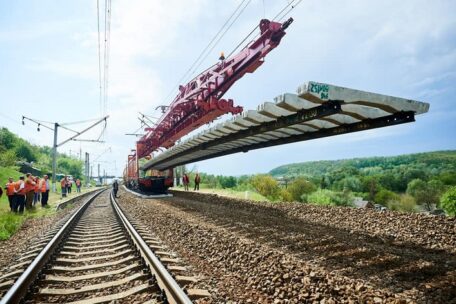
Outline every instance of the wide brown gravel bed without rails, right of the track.
<path fill-rule="evenodd" d="M 214 303 L 456 303 L 454 219 L 174 194 L 119 202 Z"/>

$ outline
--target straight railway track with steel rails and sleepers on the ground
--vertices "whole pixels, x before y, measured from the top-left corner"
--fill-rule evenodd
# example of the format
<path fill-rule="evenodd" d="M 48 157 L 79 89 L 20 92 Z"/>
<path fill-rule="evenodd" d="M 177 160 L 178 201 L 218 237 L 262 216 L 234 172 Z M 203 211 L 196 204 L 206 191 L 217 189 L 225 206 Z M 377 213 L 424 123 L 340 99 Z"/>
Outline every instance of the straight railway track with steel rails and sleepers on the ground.
<path fill-rule="evenodd" d="M 189 296 L 178 281 L 195 279 L 176 276 L 185 268 L 173 266 L 177 259 L 150 235 L 127 219 L 112 194 L 98 192 L 45 238 L 41 251 L 18 259 L 11 272 L 22 274 L 0 303 L 191 303 L 190 296 L 206 295 Z"/>

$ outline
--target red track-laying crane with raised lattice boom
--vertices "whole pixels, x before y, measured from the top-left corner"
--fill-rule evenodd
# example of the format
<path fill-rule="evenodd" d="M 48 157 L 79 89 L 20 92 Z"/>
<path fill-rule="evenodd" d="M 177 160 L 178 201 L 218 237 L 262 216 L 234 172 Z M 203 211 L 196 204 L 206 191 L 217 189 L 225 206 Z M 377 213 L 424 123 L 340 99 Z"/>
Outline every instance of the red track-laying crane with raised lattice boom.
<path fill-rule="evenodd" d="M 219 116 L 241 113 L 242 107 L 234 106 L 232 99 L 222 99 L 223 95 L 238 79 L 246 73 L 253 73 L 264 63 L 264 57 L 279 45 L 285 29 L 292 22 L 292 18 L 284 23 L 261 20 L 258 39 L 249 43 L 235 56 L 226 60 L 222 57 L 218 63 L 189 83 L 179 86 L 179 93 L 171 105 L 166 108 L 154 127 L 145 129 L 146 134 L 136 143 L 135 153 L 128 156 L 127 168 L 124 171 L 125 183 L 132 188 L 143 188 L 142 191 L 166 192 L 173 184 L 172 170 L 153 170 L 151 175 L 140 177 L 138 160 L 152 157 L 152 153 L 160 147 L 172 147 L 176 140 Z"/>

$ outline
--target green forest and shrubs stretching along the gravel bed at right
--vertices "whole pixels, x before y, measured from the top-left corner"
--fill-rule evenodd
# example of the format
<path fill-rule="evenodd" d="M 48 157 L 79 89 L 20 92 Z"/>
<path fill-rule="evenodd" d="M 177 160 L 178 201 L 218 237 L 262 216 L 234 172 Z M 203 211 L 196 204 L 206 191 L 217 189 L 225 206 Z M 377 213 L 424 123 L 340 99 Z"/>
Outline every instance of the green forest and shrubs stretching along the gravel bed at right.
<path fill-rule="evenodd" d="M 352 206 L 362 198 L 391 210 L 456 213 L 456 151 L 296 163 L 252 176 L 201 175 L 208 188 L 256 191 L 270 201 Z"/>

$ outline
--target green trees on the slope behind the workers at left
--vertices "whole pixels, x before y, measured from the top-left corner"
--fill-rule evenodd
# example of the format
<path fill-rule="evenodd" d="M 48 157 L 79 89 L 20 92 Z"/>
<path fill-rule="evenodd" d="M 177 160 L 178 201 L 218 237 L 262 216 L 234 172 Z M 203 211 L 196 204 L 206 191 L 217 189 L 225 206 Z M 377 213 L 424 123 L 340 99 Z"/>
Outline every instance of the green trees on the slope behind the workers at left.
<path fill-rule="evenodd" d="M 17 172 L 20 162 L 25 161 L 40 170 L 42 175 L 49 175 L 52 172 L 51 155 L 51 147 L 32 145 L 10 132 L 7 128 L 0 129 L 0 171 Z M 83 162 L 74 157 L 59 153 L 57 168 L 57 173 L 83 178 Z M 6 181 L 2 180 L 1 182 Z"/>

